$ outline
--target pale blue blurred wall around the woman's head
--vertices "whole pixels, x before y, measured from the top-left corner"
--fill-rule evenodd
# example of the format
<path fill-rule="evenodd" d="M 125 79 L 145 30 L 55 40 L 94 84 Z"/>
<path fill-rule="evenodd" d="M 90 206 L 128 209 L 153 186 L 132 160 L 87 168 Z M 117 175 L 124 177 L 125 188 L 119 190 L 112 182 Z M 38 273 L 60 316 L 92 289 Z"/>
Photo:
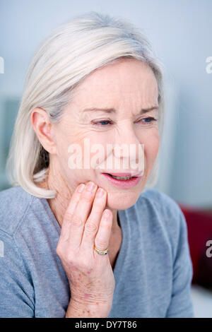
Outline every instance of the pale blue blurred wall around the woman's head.
<path fill-rule="evenodd" d="M 20 97 L 25 71 L 43 37 L 72 16 L 91 10 L 133 21 L 167 69 L 167 105 L 172 112 L 167 131 L 173 135 L 167 136 L 171 143 L 166 153 L 173 151 L 170 167 L 167 157 L 162 160 L 158 188 L 182 203 L 212 204 L 212 73 L 206 73 L 206 57 L 212 56 L 211 0 L 1 0 L 0 56 L 5 73 L 0 74 L 0 102 L 6 96 Z"/>

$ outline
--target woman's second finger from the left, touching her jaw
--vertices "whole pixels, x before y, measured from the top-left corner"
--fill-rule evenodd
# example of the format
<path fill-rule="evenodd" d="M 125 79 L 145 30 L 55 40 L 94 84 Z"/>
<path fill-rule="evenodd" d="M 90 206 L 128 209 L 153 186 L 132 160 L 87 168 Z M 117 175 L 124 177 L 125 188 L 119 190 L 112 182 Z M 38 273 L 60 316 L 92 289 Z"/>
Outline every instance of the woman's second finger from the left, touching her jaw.
<path fill-rule="evenodd" d="M 98 186 L 96 184 L 91 181 L 88 182 L 78 201 L 70 225 L 70 242 L 72 248 L 78 248 L 81 245 L 84 226 L 92 208 L 93 198 L 97 188 Z"/>

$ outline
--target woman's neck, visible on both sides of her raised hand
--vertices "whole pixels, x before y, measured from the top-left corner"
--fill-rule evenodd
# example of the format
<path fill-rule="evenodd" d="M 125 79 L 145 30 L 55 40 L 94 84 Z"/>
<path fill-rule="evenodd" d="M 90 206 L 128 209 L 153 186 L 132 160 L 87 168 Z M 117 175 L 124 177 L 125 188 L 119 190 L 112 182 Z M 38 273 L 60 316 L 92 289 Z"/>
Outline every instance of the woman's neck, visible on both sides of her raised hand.
<path fill-rule="evenodd" d="M 55 190 L 57 192 L 55 198 L 49 198 L 47 199 L 47 202 L 49 203 L 49 207 L 51 208 L 55 218 L 57 219 L 57 222 L 61 227 L 64 213 L 69 206 L 69 202 L 74 190 L 71 189 L 70 186 L 66 183 L 61 172 L 59 172 L 59 168 L 56 169 L 56 167 L 52 167 L 51 162 L 47 170 L 47 177 L 45 180 L 39 183 L 39 186 L 41 188 Z M 105 208 L 108 208 L 107 205 Z M 111 211 L 113 215 L 112 234 L 114 234 L 119 229 L 119 223 L 117 220 L 117 210 Z"/>

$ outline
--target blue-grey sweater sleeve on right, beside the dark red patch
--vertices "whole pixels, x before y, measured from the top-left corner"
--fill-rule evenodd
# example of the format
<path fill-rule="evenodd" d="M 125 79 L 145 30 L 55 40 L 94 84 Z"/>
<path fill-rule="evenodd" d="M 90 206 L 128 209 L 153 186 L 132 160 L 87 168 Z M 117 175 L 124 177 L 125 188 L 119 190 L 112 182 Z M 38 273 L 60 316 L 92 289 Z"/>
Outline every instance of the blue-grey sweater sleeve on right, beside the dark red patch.
<path fill-rule="evenodd" d="M 173 263 L 172 297 L 167 309 L 167 318 L 194 318 L 191 297 L 192 259 L 189 252 L 187 223 L 179 208 L 180 230 L 177 252 Z"/>

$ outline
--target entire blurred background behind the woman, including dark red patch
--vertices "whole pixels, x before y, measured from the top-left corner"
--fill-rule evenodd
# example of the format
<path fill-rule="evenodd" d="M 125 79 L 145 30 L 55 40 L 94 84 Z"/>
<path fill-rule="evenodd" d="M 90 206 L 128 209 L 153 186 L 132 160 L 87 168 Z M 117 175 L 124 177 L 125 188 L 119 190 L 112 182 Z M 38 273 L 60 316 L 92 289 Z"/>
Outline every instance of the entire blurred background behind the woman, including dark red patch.
<path fill-rule="evenodd" d="M 212 257 L 206 256 L 212 240 L 211 0 L 0 0 L 0 191 L 11 186 L 4 169 L 30 59 L 53 28 L 86 11 L 131 20 L 163 61 L 165 136 L 155 188 L 182 208 L 194 313 L 212 317 Z"/>

